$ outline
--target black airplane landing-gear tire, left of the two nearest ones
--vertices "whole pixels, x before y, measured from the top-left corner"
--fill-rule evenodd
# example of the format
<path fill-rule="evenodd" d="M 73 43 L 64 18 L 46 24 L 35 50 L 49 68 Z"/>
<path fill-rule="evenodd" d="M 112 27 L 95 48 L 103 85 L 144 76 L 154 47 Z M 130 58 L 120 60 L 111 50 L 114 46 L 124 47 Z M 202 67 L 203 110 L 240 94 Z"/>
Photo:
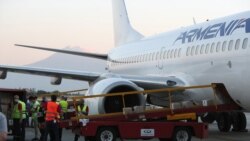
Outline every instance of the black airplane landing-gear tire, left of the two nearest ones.
<path fill-rule="evenodd" d="M 231 116 L 227 112 L 220 113 L 217 119 L 218 129 L 221 132 L 229 132 L 231 128 Z"/>

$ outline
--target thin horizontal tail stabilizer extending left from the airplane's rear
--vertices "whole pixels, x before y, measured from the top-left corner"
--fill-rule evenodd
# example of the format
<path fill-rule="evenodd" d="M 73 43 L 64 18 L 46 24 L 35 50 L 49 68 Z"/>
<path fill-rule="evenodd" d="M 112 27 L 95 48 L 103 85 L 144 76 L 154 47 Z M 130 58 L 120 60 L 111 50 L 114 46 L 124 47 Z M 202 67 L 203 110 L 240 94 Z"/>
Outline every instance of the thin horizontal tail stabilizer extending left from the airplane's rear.
<path fill-rule="evenodd" d="M 62 49 L 52 49 L 52 48 L 46 48 L 46 47 L 28 46 L 28 45 L 20 45 L 20 44 L 15 44 L 15 46 L 33 48 L 33 49 L 39 49 L 39 50 L 46 50 L 46 51 L 53 51 L 53 52 L 59 52 L 59 53 L 77 55 L 77 56 L 85 56 L 85 57 L 91 57 L 91 58 L 102 59 L 102 60 L 107 60 L 108 59 L 107 54 L 94 54 L 94 53 L 87 53 L 87 52 L 78 52 L 78 51 L 62 50 Z"/>

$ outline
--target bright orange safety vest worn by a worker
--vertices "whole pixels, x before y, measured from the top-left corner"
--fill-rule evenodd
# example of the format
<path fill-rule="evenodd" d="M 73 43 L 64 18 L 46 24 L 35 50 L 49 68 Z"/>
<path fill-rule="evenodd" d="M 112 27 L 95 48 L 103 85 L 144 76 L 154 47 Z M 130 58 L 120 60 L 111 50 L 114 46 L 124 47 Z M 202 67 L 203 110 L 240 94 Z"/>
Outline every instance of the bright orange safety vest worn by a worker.
<path fill-rule="evenodd" d="M 55 102 L 48 102 L 45 120 L 51 121 L 58 119 L 59 114 L 57 112 L 57 109 L 58 109 L 58 104 L 56 104 Z"/>

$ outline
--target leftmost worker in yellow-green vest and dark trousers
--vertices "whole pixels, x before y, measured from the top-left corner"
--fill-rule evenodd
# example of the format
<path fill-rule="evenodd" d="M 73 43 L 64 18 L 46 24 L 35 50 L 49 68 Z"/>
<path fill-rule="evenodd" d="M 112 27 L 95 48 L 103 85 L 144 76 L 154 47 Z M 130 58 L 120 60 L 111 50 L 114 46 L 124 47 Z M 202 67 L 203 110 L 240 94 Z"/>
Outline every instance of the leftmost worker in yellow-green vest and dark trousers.
<path fill-rule="evenodd" d="M 25 140 L 25 119 L 26 119 L 26 104 L 19 100 L 19 96 L 14 96 L 14 106 L 11 117 L 13 119 L 13 140 Z"/>

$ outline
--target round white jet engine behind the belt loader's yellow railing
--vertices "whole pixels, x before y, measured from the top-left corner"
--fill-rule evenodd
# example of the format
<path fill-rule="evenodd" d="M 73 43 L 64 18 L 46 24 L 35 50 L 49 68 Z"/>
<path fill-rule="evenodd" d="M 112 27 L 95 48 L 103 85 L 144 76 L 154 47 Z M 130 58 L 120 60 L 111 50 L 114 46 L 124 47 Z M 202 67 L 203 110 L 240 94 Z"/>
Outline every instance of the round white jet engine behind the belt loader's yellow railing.
<path fill-rule="evenodd" d="M 90 86 L 86 95 L 110 94 L 117 92 L 141 91 L 131 81 L 121 78 L 108 78 L 98 81 Z M 145 97 L 143 94 L 124 96 L 125 107 L 142 106 L 145 105 Z M 90 107 L 90 114 L 104 114 L 113 112 L 122 112 L 123 100 L 121 96 L 112 97 L 98 97 L 86 100 Z"/>

